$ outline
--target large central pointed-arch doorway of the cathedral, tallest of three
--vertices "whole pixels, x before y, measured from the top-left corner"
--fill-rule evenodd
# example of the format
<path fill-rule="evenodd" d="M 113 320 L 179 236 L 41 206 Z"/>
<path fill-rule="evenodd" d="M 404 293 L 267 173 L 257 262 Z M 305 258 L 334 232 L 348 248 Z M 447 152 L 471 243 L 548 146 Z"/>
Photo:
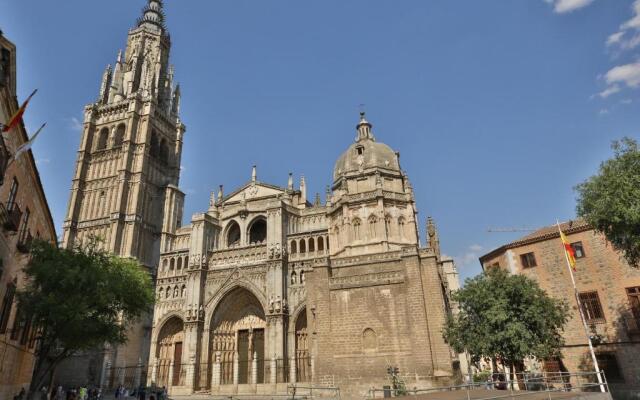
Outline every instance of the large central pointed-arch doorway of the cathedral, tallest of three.
<path fill-rule="evenodd" d="M 220 376 L 214 382 L 264 383 L 266 326 L 262 304 L 249 290 L 236 288 L 224 296 L 211 320 L 209 364 L 220 364 Z M 237 374 L 234 368 L 238 368 Z"/>

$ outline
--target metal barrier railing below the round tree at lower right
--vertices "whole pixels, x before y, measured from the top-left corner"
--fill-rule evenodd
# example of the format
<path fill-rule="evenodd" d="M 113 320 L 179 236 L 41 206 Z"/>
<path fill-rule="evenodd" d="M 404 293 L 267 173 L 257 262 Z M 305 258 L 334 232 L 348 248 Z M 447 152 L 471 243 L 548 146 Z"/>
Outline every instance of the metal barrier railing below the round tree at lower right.
<path fill-rule="evenodd" d="M 598 383 L 598 374 L 601 374 L 602 383 Z M 467 400 L 472 399 L 471 391 L 487 390 L 494 392 L 487 396 L 473 396 L 473 400 L 506 399 L 531 395 L 539 395 L 541 392 L 547 393 L 547 398 L 551 400 L 551 393 L 554 392 L 609 392 L 609 385 L 603 371 L 598 372 L 544 372 L 538 374 L 517 373 L 516 379 L 509 380 L 509 374 L 497 373 L 489 375 L 491 379 L 485 382 L 472 382 L 462 385 L 435 387 L 427 389 L 404 389 L 401 393 L 393 388 L 376 389 L 368 391 L 367 398 L 403 397 L 417 396 L 437 392 L 459 391 L 466 395 Z M 386 392 L 386 393 L 385 393 Z M 500 394 L 498 394 L 500 393 Z M 477 394 L 477 393 L 476 393 Z"/>

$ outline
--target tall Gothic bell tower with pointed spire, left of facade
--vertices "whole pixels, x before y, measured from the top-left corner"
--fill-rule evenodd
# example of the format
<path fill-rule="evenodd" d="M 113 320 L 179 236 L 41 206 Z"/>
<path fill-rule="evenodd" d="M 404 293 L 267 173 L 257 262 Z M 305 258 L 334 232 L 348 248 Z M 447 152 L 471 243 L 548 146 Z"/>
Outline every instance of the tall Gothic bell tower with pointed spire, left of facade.
<path fill-rule="evenodd" d="M 163 2 L 148 0 L 125 52 L 106 67 L 96 101 L 84 109 L 63 247 L 97 236 L 110 252 L 154 272 L 165 202 L 179 183 L 185 133 L 170 50 Z M 145 364 L 149 342 L 150 322 L 143 321 L 105 363 Z"/>

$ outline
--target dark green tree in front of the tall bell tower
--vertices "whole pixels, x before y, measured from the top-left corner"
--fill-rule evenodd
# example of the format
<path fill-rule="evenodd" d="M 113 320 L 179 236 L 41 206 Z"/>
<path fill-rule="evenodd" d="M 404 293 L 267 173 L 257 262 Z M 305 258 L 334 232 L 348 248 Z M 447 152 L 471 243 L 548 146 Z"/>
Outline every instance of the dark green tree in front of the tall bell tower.
<path fill-rule="evenodd" d="M 74 249 L 32 245 L 26 285 L 17 294 L 19 314 L 38 332 L 30 396 L 50 386 L 56 367 L 74 353 L 125 343 L 129 324 L 151 310 L 150 276 L 99 244 L 93 238 Z"/>

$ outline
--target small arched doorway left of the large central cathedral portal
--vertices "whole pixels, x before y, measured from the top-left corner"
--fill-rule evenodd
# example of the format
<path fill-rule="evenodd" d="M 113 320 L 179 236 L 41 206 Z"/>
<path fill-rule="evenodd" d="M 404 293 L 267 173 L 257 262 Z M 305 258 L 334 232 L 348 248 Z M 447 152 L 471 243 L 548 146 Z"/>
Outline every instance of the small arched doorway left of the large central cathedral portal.
<path fill-rule="evenodd" d="M 156 360 L 158 361 L 156 383 L 158 387 L 182 385 L 183 341 L 183 321 L 178 317 L 170 318 L 160 329 L 156 343 Z"/>

